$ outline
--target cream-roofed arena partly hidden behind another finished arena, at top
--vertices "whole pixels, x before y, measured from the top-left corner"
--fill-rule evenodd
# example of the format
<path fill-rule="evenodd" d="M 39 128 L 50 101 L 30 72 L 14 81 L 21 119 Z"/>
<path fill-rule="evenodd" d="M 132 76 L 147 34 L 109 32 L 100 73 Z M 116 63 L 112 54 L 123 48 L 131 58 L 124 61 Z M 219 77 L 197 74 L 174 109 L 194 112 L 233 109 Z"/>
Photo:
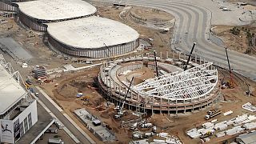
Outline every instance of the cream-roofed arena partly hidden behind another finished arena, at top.
<path fill-rule="evenodd" d="M 17 4 L 20 21 L 38 31 L 46 31 L 45 23 L 86 18 L 97 11 L 82 0 L 38 0 Z"/>

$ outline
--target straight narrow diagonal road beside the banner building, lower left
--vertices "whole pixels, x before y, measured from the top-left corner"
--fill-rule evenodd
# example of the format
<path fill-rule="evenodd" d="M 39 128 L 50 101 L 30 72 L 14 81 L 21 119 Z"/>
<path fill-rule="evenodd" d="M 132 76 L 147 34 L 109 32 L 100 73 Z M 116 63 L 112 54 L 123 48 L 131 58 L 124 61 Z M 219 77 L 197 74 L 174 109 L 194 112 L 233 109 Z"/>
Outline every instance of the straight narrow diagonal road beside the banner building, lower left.
<path fill-rule="evenodd" d="M 34 89 L 36 90 L 36 89 Z M 40 93 L 39 91 L 37 91 L 38 93 Z M 66 117 L 64 117 L 64 115 L 51 103 L 49 102 L 49 100 L 42 96 L 42 94 L 39 94 L 38 98 L 47 106 L 48 109 L 50 109 L 50 111 L 59 119 L 59 121 L 61 121 L 63 123 L 64 126 L 66 126 L 66 128 L 68 130 L 70 130 L 70 132 L 72 134 L 74 134 L 74 136 L 76 138 L 78 138 L 78 140 L 82 143 L 88 144 L 90 143 L 86 137 L 84 137 L 76 127 L 74 127 L 74 125 L 72 125 L 72 123 L 70 121 L 68 121 L 66 119 Z"/>

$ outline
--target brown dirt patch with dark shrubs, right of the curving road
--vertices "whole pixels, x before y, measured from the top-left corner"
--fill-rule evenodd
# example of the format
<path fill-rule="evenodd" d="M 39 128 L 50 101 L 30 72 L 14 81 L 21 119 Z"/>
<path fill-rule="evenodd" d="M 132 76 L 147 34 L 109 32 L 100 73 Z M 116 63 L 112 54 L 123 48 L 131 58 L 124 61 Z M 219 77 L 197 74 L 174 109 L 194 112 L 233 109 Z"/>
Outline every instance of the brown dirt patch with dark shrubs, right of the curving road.
<path fill-rule="evenodd" d="M 240 30 L 239 34 L 233 34 L 230 31 L 234 28 Z M 252 41 L 254 46 L 250 46 L 249 39 L 247 38 L 247 30 L 250 30 L 250 34 L 255 34 L 256 26 L 254 26 L 254 23 L 250 26 L 214 26 L 213 31 L 218 37 L 222 38 L 226 48 L 256 57 L 256 36 L 254 35 L 252 37 L 254 39 Z"/>

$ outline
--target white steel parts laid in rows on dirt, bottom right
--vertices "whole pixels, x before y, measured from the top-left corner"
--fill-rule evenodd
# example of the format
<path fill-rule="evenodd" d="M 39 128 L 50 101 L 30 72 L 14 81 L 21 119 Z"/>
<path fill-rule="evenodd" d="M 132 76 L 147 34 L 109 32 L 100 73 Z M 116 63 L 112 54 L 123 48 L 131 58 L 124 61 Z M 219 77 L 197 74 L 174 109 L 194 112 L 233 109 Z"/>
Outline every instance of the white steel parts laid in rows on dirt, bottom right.
<path fill-rule="evenodd" d="M 190 136 L 190 138 L 207 138 L 215 133 L 216 130 L 225 130 L 218 132 L 216 136 L 223 137 L 225 135 L 233 135 L 243 132 L 244 130 L 251 130 L 256 128 L 256 122 L 252 122 L 256 120 L 255 115 L 247 115 L 242 114 L 241 116 L 237 116 L 236 118 L 232 118 L 228 121 L 223 122 L 206 122 L 203 123 L 200 128 L 194 128 L 192 130 L 188 130 L 186 134 Z M 217 122 L 217 121 L 215 121 Z M 230 127 L 229 130 L 226 130 Z"/>

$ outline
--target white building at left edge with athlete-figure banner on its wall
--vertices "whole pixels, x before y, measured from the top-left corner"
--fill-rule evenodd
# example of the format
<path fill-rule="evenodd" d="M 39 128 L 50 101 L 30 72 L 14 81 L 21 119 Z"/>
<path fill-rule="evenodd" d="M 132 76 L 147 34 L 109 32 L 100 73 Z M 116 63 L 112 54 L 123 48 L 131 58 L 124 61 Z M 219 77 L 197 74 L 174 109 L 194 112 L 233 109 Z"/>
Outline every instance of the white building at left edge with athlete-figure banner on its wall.
<path fill-rule="evenodd" d="M 36 100 L 21 75 L 0 54 L 0 143 L 15 143 L 38 122 Z"/>

